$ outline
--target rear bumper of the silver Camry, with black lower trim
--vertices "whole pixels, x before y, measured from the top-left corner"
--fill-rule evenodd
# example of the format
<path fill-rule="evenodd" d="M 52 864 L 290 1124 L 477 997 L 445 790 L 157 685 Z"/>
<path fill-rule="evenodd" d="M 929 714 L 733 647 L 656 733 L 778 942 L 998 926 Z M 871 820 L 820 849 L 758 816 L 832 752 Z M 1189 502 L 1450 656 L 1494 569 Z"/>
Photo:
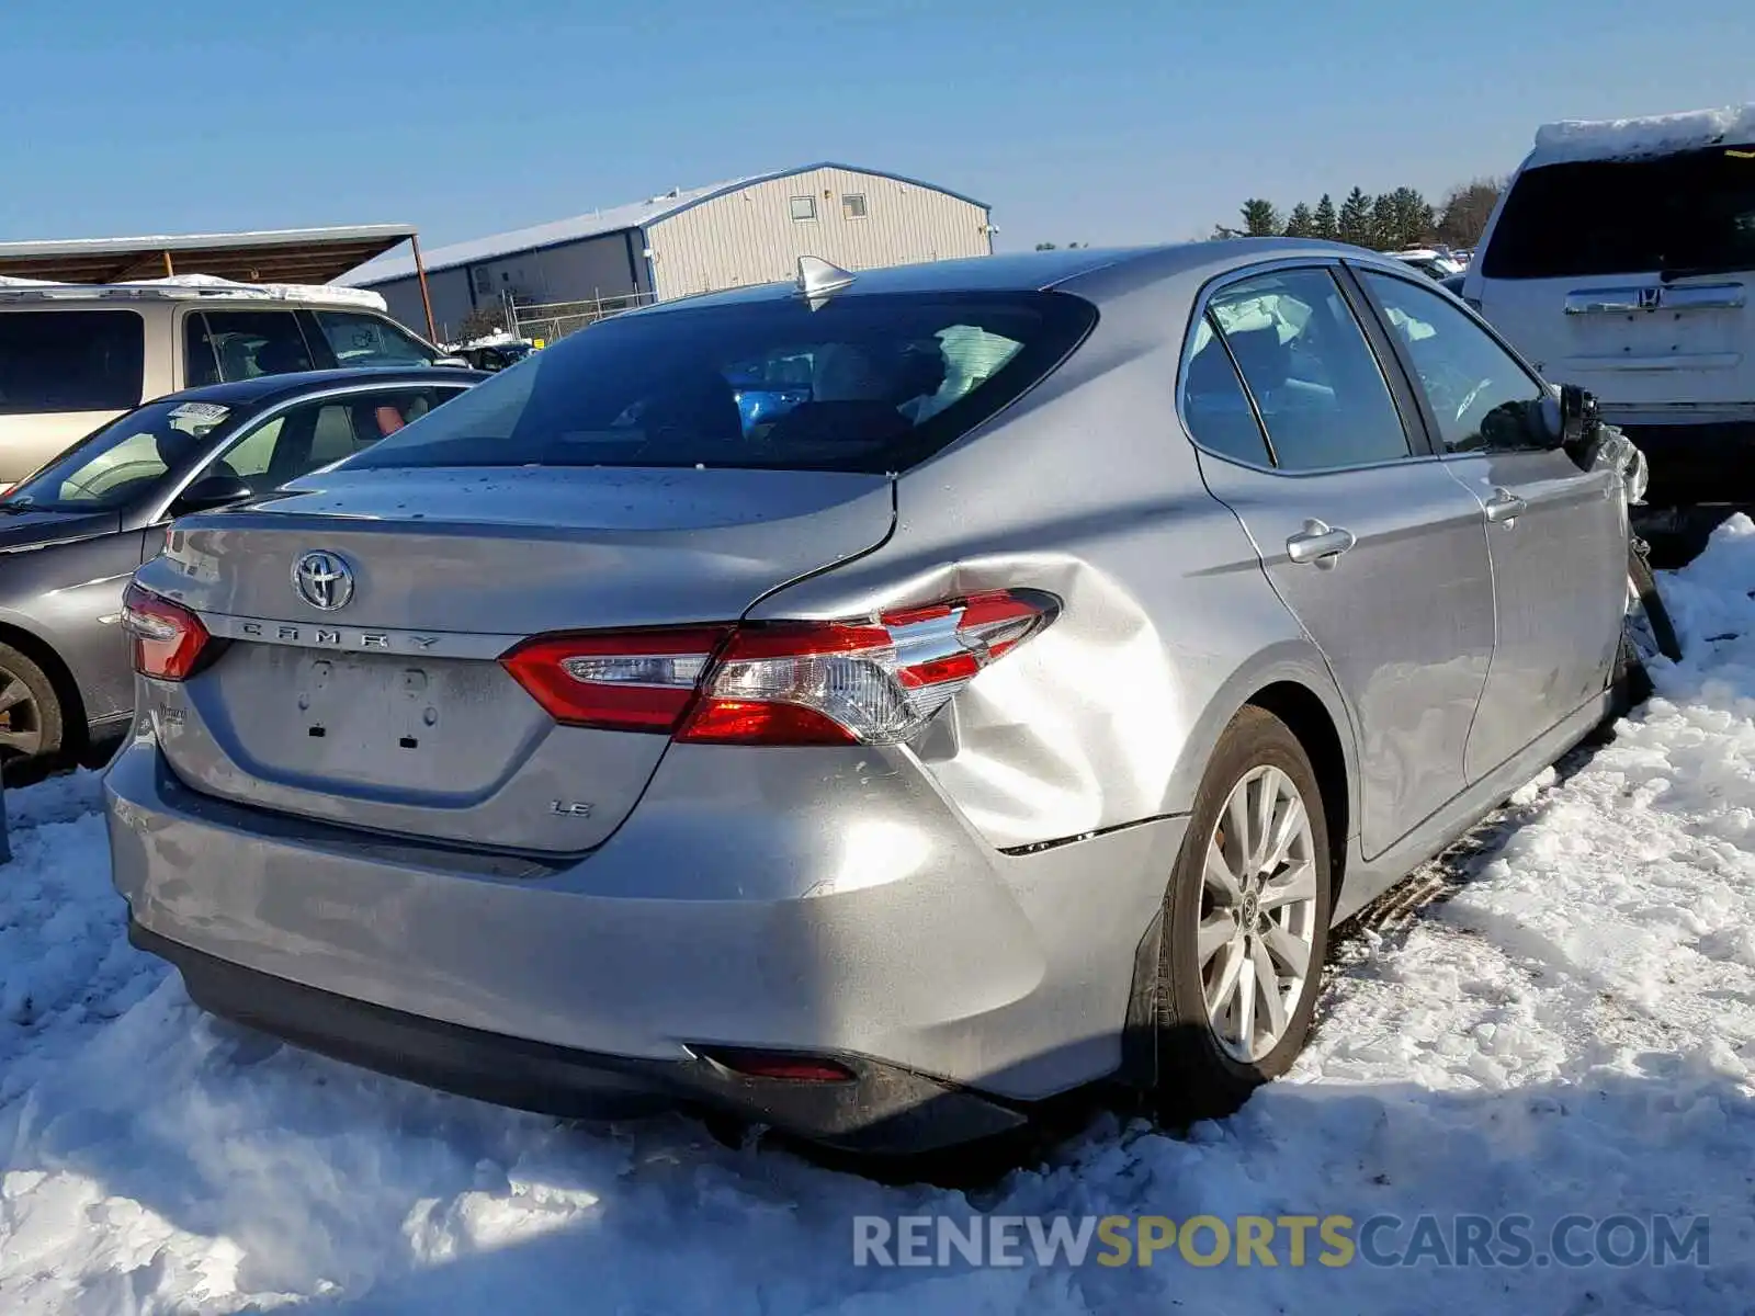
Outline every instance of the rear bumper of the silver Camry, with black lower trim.
<path fill-rule="evenodd" d="M 105 772 L 116 886 L 216 1012 L 514 1105 L 918 1148 L 1120 1067 L 1183 818 L 1009 856 L 881 751 L 711 749 L 669 755 L 590 856 L 537 863 L 214 800 L 139 735 Z M 713 1048 L 860 1079 L 742 1079 Z"/>

